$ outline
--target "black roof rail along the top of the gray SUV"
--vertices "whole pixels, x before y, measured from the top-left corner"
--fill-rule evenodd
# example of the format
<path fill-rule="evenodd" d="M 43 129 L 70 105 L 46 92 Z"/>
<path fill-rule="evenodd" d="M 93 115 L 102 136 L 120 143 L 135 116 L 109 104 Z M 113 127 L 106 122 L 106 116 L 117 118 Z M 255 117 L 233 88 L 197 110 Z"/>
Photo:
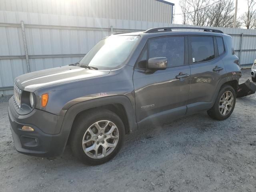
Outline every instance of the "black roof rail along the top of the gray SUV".
<path fill-rule="evenodd" d="M 200 28 L 200 27 L 158 27 L 146 30 L 144 33 L 171 32 L 172 29 L 199 29 L 205 32 L 223 33 L 218 29 Z"/>

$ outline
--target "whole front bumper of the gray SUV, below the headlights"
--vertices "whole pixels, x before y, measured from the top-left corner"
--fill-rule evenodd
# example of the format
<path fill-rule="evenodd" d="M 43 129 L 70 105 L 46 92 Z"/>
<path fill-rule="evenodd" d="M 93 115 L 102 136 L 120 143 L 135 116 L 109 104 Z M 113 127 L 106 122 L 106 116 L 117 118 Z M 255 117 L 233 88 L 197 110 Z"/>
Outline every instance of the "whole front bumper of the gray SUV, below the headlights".
<path fill-rule="evenodd" d="M 64 117 L 34 109 L 30 114 L 19 115 L 14 109 L 13 98 L 9 100 L 8 116 L 16 150 L 23 154 L 52 157 L 62 154 L 68 140 L 61 126 Z M 42 120 L 39 120 L 42 119 Z M 22 126 L 34 131 L 24 131 Z M 49 134 L 49 132 L 57 134 Z"/>

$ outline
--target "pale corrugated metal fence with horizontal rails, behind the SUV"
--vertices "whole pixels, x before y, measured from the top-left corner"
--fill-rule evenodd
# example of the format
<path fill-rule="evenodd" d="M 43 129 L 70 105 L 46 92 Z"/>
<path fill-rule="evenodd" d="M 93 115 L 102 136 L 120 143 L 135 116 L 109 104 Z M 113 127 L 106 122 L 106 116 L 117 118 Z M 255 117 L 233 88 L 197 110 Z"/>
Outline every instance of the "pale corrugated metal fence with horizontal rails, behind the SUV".
<path fill-rule="evenodd" d="M 0 11 L 0 94 L 12 94 L 13 80 L 21 74 L 79 61 L 92 46 L 111 33 L 162 26 L 170 24 Z M 241 65 L 253 63 L 255 30 L 216 29 L 232 36 Z"/>

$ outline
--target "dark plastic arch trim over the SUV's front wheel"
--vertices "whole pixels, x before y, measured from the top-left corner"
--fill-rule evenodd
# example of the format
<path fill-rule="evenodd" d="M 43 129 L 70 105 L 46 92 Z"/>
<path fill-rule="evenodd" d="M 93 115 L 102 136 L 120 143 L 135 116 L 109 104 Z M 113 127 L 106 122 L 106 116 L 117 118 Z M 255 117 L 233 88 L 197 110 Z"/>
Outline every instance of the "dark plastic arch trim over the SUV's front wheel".
<path fill-rule="evenodd" d="M 128 97 L 108 96 L 103 98 L 96 98 L 74 104 L 66 111 L 61 128 L 63 138 L 66 138 L 66 142 L 68 141 L 68 137 L 77 114 L 90 108 L 100 107 L 108 104 L 121 104 L 122 106 L 124 106 L 128 119 L 129 132 L 133 132 L 134 130 L 138 129 L 136 116 Z"/>

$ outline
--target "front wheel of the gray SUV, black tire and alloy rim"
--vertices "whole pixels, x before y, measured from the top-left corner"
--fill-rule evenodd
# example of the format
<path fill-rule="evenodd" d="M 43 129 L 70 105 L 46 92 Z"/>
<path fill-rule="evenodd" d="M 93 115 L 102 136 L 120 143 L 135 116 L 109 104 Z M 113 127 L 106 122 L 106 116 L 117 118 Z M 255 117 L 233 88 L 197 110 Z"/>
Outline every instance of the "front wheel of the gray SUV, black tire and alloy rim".
<path fill-rule="evenodd" d="M 118 115 L 106 109 L 89 110 L 75 121 L 70 146 L 74 156 L 84 164 L 99 165 L 108 162 L 120 151 L 125 129 Z"/>

